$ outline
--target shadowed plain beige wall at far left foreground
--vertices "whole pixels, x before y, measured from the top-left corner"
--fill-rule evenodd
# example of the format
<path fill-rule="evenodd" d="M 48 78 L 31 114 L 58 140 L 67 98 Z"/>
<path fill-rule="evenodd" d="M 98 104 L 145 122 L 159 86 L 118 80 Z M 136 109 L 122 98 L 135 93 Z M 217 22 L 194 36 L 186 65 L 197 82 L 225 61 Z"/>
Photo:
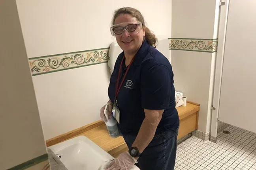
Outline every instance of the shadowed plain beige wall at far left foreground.
<path fill-rule="evenodd" d="M 0 0 L 0 169 L 46 154 L 15 0 Z"/>

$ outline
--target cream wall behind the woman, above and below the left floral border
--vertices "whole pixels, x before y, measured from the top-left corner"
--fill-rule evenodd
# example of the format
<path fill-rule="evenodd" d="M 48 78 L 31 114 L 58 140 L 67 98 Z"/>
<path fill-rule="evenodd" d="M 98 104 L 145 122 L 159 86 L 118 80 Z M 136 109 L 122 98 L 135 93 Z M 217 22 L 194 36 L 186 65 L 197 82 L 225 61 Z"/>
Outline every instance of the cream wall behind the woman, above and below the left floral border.
<path fill-rule="evenodd" d="M 17 0 L 28 57 L 109 47 L 115 9 L 131 6 L 156 35 L 171 36 L 169 0 Z M 33 76 L 45 139 L 100 119 L 108 100 L 107 63 Z"/>

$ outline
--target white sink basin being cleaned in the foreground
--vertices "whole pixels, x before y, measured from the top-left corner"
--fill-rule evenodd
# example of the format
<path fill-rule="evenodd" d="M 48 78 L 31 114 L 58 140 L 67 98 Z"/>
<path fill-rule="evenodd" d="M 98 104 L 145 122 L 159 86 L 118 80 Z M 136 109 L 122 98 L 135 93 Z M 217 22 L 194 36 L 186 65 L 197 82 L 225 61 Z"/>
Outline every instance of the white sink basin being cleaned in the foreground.
<path fill-rule="evenodd" d="M 98 170 L 105 161 L 114 159 L 85 136 L 78 136 L 49 148 L 61 156 L 60 161 L 68 170 Z M 131 170 L 137 169 L 134 165 Z"/>

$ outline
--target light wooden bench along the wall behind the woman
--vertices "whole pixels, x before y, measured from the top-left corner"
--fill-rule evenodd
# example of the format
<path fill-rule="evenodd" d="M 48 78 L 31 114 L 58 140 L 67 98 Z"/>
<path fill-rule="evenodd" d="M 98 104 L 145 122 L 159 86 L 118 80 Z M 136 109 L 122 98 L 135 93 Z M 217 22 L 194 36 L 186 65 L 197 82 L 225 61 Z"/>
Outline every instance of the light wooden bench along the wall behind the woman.
<path fill-rule="evenodd" d="M 177 107 L 180 118 L 178 139 L 197 129 L 199 109 L 200 105 L 193 102 L 187 102 L 186 107 Z M 102 120 L 49 139 L 46 141 L 46 145 L 48 147 L 79 135 L 85 135 L 115 158 L 118 157 L 120 153 L 128 150 L 122 137 L 113 139 L 109 136 L 107 127 Z"/>

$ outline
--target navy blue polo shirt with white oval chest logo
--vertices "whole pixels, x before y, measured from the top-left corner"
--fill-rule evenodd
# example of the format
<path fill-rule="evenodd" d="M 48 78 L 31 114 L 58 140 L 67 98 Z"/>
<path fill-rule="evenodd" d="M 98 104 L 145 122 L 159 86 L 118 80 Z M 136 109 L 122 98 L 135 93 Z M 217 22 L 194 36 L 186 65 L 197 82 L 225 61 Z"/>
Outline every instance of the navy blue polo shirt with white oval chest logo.
<path fill-rule="evenodd" d="M 115 101 L 117 77 L 123 56 L 124 52 L 118 56 L 110 78 L 108 95 L 112 103 Z M 123 61 L 119 85 L 126 69 Z M 166 129 L 175 131 L 179 126 L 172 67 L 168 59 L 147 41 L 139 48 L 128 70 L 117 96 L 117 104 L 120 110 L 119 128 L 123 135 L 137 135 L 145 119 L 144 109 L 164 109 L 156 134 Z"/>

